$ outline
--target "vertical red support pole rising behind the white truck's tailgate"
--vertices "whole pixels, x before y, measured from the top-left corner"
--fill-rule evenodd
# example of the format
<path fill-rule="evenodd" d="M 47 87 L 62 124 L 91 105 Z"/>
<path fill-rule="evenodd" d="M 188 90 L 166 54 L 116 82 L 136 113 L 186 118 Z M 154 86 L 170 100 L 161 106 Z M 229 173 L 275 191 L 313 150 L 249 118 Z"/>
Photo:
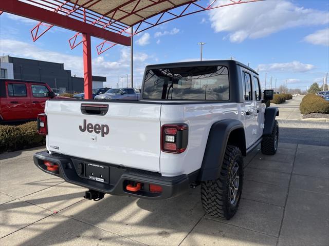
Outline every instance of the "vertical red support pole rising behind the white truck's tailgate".
<path fill-rule="evenodd" d="M 90 33 L 82 33 L 84 99 L 93 99 L 92 45 Z"/>

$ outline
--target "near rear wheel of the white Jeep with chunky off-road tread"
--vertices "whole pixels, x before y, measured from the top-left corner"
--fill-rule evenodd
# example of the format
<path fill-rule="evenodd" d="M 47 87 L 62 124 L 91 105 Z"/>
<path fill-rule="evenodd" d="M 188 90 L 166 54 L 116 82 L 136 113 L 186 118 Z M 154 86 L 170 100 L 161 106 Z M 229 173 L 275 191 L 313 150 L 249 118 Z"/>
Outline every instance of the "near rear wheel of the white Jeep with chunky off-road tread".
<path fill-rule="evenodd" d="M 201 183 L 201 201 L 205 212 L 229 220 L 239 207 L 243 185 L 243 157 L 239 148 L 228 145 L 220 177 Z"/>

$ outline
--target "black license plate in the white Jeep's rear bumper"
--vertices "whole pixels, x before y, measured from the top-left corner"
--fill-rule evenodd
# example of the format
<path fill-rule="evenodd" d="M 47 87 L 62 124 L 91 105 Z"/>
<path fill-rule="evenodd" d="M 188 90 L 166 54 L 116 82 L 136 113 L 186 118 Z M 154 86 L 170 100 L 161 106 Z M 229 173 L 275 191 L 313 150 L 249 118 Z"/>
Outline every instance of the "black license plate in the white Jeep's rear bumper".
<path fill-rule="evenodd" d="M 96 163 L 86 163 L 86 178 L 101 183 L 109 183 L 109 167 Z"/>

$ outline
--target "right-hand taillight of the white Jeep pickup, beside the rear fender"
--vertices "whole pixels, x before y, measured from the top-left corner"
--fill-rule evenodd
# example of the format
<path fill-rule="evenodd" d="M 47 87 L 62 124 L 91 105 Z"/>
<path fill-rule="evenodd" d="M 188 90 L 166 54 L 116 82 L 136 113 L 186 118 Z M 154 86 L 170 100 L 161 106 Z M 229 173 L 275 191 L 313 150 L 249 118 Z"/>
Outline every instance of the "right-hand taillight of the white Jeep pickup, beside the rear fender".
<path fill-rule="evenodd" d="M 166 124 L 161 127 L 161 150 L 170 153 L 182 153 L 186 150 L 189 138 L 186 124 Z"/>

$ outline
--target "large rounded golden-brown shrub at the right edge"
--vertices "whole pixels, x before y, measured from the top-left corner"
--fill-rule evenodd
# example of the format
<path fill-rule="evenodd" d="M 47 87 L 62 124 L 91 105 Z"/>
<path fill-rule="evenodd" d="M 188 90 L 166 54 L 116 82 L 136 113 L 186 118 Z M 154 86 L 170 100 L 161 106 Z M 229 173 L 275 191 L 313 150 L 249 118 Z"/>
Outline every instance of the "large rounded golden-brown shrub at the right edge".
<path fill-rule="evenodd" d="M 329 114 L 329 101 L 314 94 L 307 94 L 303 97 L 299 109 L 302 114 Z"/>

